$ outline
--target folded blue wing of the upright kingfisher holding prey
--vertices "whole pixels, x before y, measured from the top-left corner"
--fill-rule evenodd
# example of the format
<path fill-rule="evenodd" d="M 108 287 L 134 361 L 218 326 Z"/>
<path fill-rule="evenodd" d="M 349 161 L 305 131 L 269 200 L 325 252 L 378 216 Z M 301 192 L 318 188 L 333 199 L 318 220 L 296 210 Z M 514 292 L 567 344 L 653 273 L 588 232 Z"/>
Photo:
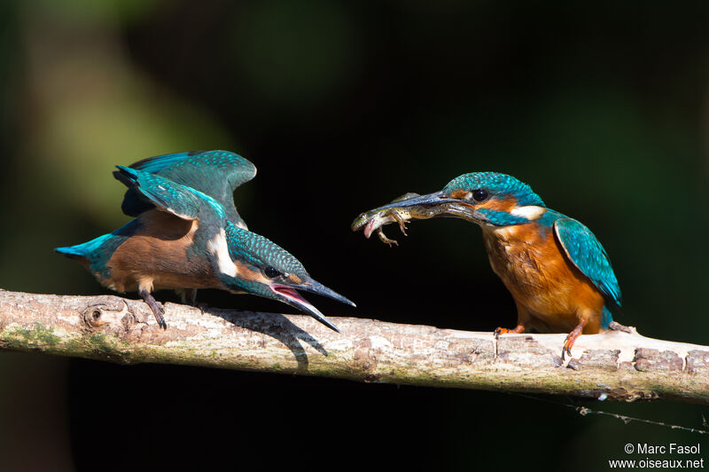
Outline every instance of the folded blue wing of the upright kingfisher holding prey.
<path fill-rule="evenodd" d="M 620 306 L 620 287 L 611 260 L 596 236 L 573 218 L 563 217 L 554 222 L 554 232 L 566 256 L 613 303 Z"/>

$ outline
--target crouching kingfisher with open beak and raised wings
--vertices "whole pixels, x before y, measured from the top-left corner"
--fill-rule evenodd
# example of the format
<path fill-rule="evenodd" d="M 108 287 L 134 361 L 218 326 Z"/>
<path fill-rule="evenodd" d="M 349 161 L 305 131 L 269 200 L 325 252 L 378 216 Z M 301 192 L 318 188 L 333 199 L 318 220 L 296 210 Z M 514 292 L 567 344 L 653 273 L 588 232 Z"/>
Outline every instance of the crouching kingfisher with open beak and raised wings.
<path fill-rule="evenodd" d="M 116 167 L 113 177 L 128 187 L 121 209 L 135 219 L 58 253 L 78 260 L 104 287 L 137 291 L 162 328 L 164 309 L 153 290 L 174 289 L 194 304 L 199 288 L 219 288 L 287 303 L 339 333 L 297 290 L 354 303 L 239 216 L 233 193 L 256 175 L 253 163 L 228 151 L 197 151 Z"/>

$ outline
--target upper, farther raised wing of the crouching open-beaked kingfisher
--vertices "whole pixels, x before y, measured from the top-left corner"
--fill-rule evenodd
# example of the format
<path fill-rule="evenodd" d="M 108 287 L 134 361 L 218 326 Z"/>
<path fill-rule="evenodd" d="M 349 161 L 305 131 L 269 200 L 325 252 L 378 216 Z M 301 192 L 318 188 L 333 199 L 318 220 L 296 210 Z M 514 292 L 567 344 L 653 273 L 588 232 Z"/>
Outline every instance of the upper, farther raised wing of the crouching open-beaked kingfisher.
<path fill-rule="evenodd" d="M 234 190 L 256 175 L 256 168 L 236 153 L 229 151 L 191 151 L 149 157 L 129 166 L 186 185 L 218 201 L 235 224 L 243 224 L 234 206 Z M 123 198 L 121 209 L 138 216 L 152 208 L 131 188 Z"/>

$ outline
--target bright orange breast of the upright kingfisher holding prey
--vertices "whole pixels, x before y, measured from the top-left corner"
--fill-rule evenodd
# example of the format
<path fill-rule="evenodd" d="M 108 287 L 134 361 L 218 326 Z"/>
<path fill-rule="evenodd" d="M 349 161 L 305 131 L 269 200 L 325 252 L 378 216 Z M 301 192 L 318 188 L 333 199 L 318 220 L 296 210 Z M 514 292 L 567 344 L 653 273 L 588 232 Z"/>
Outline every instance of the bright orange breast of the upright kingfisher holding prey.
<path fill-rule="evenodd" d="M 493 271 L 515 300 L 518 323 L 541 332 L 568 332 L 586 319 L 598 333 L 604 297 L 565 256 L 551 228 L 534 222 L 483 228 Z"/>

